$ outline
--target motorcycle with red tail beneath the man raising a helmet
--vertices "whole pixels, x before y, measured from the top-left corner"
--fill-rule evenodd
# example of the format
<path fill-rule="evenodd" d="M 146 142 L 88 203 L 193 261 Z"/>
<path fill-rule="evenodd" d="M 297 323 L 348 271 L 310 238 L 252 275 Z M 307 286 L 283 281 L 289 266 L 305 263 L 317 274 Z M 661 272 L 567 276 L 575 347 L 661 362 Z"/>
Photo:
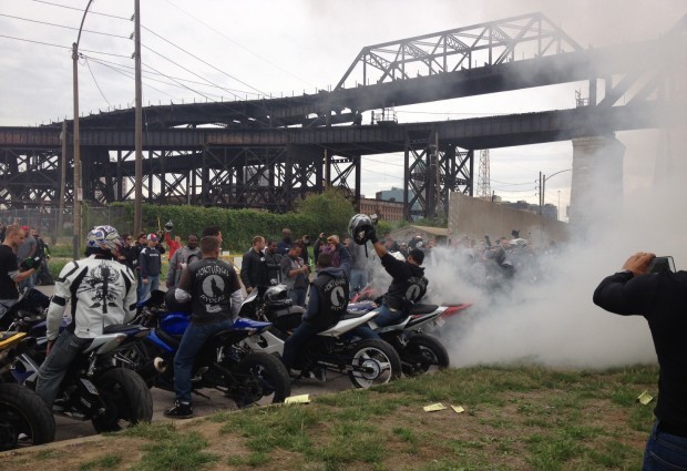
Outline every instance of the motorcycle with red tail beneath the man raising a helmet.
<path fill-rule="evenodd" d="M 378 305 L 375 301 L 351 303 L 349 313 L 375 313 Z M 368 325 L 387 342 L 389 342 L 401 359 L 403 375 L 412 377 L 424 373 L 431 368 L 449 368 L 449 354 L 437 337 L 425 334 L 423 329 L 441 327 L 444 318 L 452 317 L 463 309 L 463 305 L 437 306 L 416 304 L 410 308 L 408 316 L 398 324 L 378 327 L 375 319 Z"/>

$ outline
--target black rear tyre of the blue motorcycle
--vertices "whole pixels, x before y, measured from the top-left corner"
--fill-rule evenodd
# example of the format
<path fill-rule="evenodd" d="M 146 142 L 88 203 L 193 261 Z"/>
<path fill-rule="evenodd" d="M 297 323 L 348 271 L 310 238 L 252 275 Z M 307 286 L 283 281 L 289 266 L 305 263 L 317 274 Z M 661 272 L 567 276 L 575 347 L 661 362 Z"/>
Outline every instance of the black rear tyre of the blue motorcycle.
<path fill-rule="evenodd" d="M 239 408 L 257 401 L 284 402 L 291 395 L 291 381 L 284 364 L 269 354 L 250 354 L 236 368 L 242 385 L 229 396 Z"/>

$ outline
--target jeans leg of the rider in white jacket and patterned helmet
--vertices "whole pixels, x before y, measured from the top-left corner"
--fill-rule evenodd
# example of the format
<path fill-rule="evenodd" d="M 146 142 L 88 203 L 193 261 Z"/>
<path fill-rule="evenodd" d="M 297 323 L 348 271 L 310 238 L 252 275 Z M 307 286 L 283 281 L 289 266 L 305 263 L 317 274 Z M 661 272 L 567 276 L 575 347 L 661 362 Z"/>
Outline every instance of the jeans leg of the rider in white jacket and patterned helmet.
<path fill-rule="evenodd" d="M 35 392 L 45 402 L 48 409 L 52 410 L 52 403 L 60 392 L 60 386 L 62 386 L 69 366 L 92 341 L 91 338 L 76 337 L 69 330 L 62 330 L 55 340 L 50 355 L 38 369 L 35 385 Z"/>

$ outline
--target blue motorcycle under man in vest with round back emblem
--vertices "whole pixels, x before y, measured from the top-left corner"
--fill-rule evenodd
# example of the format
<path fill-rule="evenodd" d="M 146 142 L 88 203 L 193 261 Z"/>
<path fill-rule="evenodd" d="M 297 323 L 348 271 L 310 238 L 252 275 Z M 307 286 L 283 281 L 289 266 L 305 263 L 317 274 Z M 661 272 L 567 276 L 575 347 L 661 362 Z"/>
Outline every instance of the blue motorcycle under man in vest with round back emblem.
<path fill-rule="evenodd" d="M 174 391 L 174 355 L 191 315 L 167 310 L 164 293 L 154 291 L 141 306 L 134 322 L 153 329 L 144 341 L 116 356 L 120 365 L 135 370 L 148 387 Z M 213 388 L 233 399 L 239 408 L 264 398 L 284 402 L 290 396 L 288 371 L 278 358 L 264 352 L 254 354 L 238 345 L 245 338 L 259 335 L 271 324 L 238 318 L 230 329 L 212 336 L 198 352 L 193 369 L 193 390 Z"/>

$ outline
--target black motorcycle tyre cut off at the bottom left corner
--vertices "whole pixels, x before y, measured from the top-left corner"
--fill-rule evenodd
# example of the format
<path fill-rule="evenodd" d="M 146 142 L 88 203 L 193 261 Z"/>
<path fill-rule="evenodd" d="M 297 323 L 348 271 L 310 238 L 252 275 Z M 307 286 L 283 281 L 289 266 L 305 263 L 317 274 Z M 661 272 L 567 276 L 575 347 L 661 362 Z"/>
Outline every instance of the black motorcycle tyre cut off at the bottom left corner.
<path fill-rule="evenodd" d="M 50 443 L 55 422 L 48 406 L 32 390 L 0 383 L 0 451 Z"/>

